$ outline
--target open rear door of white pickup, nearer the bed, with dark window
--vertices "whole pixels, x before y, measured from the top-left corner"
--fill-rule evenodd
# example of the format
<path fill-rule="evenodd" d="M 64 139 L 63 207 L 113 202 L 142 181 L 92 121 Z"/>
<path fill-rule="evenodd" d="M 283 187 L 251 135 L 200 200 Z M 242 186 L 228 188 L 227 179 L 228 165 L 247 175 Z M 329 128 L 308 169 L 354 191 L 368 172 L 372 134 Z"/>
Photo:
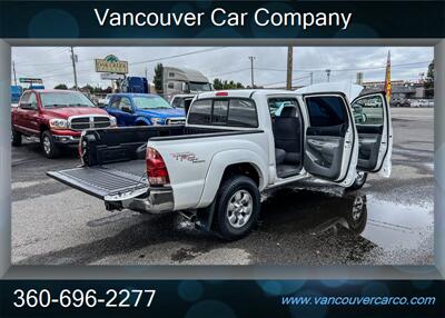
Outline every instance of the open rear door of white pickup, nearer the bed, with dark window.
<path fill-rule="evenodd" d="M 343 93 L 304 95 L 308 116 L 304 168 L 310 175 L 353 185 L 356 178 L 358 138 L 352 109 Z"/>

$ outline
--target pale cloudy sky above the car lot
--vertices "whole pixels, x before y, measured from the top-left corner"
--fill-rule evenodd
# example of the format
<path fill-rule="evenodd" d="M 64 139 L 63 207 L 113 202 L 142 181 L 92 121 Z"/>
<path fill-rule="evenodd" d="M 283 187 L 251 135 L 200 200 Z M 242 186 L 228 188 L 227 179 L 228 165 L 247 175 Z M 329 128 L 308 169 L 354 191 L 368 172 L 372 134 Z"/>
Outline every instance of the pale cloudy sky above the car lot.
<path fill-rule="evenodd" d="M 152 81 L 158 62 L 170 67 L 186 67 L 201 71 L 211 81 L 214 78 L 250 85 L 250 60 L 254 60 L 256 86 L 284 87 L 286 81 L 287 47 L 75 47 L 78 56 L 77 73 L 79 87 L 108 87 L 95 71 L 95 59 L 115 54 L 129 62 L 129 76 L 139 76 Z M 392 79 L 412 80 L 426 76 L 433 60 L 433 47 L 294 47 L 294 86 L 327 81 L 326 69 L 330 69 L 330 81 L 355 81 L 356 73 L 364 73 L 364 81 L 385 78 L 387 53 L 390 51 Z M 17 78 L 42 78 L 47 88 L 58 83 L 73 86 L 73 71 L 68 47 L 14 47 Z M 13 82 L 13 74 L 11 73 Z"/>

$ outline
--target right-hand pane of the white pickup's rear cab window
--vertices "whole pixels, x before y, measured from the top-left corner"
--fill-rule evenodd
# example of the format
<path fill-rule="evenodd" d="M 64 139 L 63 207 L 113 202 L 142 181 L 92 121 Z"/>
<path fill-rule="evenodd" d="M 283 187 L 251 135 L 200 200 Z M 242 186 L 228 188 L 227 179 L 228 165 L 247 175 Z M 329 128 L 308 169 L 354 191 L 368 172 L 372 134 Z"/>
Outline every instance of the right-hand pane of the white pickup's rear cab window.
<path fill-rule="evenodd" d="M 227 126 L 258 127 L 257 110 L 251 100 L 230 99 Z"/>

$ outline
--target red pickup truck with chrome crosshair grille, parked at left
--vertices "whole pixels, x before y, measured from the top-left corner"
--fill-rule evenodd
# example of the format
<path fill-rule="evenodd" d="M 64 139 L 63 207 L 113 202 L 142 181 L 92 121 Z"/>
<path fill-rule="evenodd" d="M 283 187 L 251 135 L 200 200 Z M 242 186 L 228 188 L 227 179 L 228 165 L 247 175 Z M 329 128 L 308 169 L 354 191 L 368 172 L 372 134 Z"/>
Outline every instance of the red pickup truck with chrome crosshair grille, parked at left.
<path fill-rule="evenodd" d="M 62 147 L 77 146 L 82 130 L 116 126 L 116 118 L 97 108 L 79 91 L 27 90 L 11 110 L 12 146 L 22 136 L 37 137 L 48 158 Z"/>

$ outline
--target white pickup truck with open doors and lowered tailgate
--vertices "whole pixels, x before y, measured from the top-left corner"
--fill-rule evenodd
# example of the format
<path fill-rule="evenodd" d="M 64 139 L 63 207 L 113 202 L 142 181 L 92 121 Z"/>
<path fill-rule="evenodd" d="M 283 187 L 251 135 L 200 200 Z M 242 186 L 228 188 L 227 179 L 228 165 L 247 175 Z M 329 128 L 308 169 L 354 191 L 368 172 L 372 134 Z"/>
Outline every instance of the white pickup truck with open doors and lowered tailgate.
<path fill-rule="evenodd" d="M 308 177 L 352 189 L 367 173 L 389 177 L 393 132 L 384 93 L 352 103 L 348 96 L 326 85 L 303 93 L 199 93 L 185 126 L 87 130 L 82 167 L 48 175 L 109 210 L 186 211 L 201 228 L 238 239 L 255 225 L 261 193 Z"/>

